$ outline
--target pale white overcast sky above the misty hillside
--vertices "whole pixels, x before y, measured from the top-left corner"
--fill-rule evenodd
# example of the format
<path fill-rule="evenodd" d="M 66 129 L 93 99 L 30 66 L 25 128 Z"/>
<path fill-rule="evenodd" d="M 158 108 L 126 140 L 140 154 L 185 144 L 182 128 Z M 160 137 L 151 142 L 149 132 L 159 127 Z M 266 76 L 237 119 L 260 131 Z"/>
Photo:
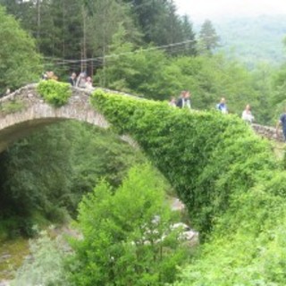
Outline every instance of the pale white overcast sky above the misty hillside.
<path fill-rule="evenodd" d="M 220 17 L 286 14 L 286 0 L 174 0 L 180 14 L 192 21 Z"/>

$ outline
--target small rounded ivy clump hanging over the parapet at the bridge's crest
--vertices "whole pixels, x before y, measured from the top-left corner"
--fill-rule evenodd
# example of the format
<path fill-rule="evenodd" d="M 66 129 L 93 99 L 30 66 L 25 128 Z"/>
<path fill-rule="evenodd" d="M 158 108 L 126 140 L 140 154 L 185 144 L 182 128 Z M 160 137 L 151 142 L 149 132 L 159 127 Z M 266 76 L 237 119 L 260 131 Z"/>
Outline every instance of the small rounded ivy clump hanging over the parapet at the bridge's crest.
<path fill-rule="evenodd" d="M 37 90 L 47 103 L 57 107 L 66 105 L 71 97 L 71 85 L 56 80 L 41 80 Z"/>

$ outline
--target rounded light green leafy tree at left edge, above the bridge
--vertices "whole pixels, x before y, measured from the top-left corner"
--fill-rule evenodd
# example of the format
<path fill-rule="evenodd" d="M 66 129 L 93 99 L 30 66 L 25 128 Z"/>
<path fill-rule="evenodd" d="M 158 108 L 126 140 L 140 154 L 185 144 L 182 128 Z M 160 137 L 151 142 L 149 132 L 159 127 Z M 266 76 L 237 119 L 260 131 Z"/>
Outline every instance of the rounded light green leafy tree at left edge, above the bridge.
<path fill-rule="evenodd" d="M 5 88 L 19 88 L 38 80 L 40 56 L 27 32 L 0 6 L 0 94 Z"/>

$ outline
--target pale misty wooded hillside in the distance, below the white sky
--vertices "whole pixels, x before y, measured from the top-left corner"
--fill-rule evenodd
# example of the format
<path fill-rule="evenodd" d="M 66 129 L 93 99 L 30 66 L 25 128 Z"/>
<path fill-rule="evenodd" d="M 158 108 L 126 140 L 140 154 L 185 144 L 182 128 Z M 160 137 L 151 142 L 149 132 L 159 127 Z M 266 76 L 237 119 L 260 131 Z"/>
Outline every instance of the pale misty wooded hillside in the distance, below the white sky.
<path fill-rule="evenodd" d="M 279 64 L 285 60 L 286 15 L 223 18 L 213 23 L 223 51 L 249 67 L 260 61 Z"/>

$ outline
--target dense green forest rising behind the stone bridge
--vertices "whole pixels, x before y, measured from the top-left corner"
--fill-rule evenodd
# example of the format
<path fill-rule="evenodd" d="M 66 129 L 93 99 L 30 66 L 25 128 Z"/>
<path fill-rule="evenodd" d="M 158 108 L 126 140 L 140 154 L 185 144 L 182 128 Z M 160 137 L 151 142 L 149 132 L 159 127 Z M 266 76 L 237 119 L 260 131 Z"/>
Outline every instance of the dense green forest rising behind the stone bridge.
<path fill-rule="evenodd" d="M 19 29 L 24 29 L 30 38 L 29 45 L 15 45 L 24 38 L 27 41 L 28 36 L 13 34 L 7 40 L 9 31 L 2 31 L 4 77 L 0 93 L 38 80 L 43 71 L 54 71 L 63 81 L 72 71 L 87 71 L 94 86 L 142 97 L 166 100 L 189 89 L 192 105 L 197 109 L 214 108 L 221 97 L 226 97 L 235 114 L 241 114 L 250 104 L 261 123 L 273 124 L 281 113 L 284 66 L 260 63 L 255 46 L 250 43 L 248 47 L 253 52 L 247 54 L 252 57 L 256 53 L 257 62 L 249 71 L 245 63 L 223 54 L 224 43 L 235 37 L 235 32 L 219 35 L 214 24 L 206 20 L 195 33 L 189 17 L 176 13 L 172 1 L 1 0 L 0 4 L 6 13 L 13 14 Z M 258 23 L 263 19 L 258 19 Z M 9 27 L 8 23 L 2 25 L 14 29 L 11 21 Z M 246 29 L 246 24 L 240 26 Z M 282 30 L 283 27 L 279 33 L 270 33 L 279 34 L 282 42 Z M 251 31 L 258 37 L 257 29 Z M 242 34 L 245 33 L 241 31 Z M 264 41 L 257 41 L 256 46 L 263 50 L 260 46 Z M 14 45 L 16 48 L 12 49 Z M 233 45 L 239 49 L 239 44 L 233 41 Z M 33 58 L 28 49 L 38 58 Z M 22 63 L 21 69 L 18 63 Z"/>

